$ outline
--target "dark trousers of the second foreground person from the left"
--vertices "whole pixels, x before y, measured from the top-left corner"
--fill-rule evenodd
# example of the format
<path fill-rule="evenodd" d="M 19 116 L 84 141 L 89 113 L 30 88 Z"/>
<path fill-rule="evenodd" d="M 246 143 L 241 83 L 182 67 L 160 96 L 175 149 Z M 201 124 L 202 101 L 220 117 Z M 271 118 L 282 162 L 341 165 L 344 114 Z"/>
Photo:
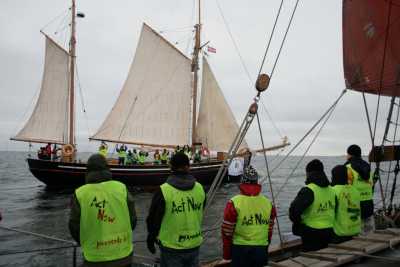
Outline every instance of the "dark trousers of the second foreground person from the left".
<path fill-rule="evenodd" d="M 198 267 L 199 248 L 179 251 L 176 249 L 160 248 L 161 267 Z"/>

